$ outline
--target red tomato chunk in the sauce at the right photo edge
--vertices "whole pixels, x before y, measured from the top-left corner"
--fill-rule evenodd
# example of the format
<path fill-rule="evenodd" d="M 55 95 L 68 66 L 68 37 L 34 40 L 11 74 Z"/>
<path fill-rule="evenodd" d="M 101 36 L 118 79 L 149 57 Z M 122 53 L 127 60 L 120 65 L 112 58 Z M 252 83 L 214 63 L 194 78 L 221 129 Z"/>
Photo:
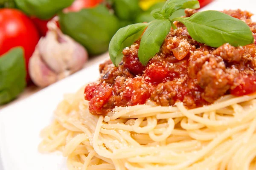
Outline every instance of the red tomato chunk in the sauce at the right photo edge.
<path fill-rule="evenodd" d="M 256 92 L 256 75 L 240 77 L 237 81 L 241 82 L 240 85 L 230 90 L 230 94 L 242 96 Z"/>

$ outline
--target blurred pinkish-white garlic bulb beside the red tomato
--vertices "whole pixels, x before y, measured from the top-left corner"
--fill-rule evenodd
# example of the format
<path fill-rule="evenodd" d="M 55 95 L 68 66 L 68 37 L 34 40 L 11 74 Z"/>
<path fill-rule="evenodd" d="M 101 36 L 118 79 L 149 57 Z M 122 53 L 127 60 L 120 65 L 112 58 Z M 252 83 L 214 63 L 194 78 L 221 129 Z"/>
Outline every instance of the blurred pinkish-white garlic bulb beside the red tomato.
<path fill-rule="evenodd" d="M 88 59 L 86 49 L 64 35 L 55 21 L 50 21 L 47 27 L 46 37 L 41 37 L 29 60 L 29 75 L 39 87 L 46 87 L 79 71 Z"/>

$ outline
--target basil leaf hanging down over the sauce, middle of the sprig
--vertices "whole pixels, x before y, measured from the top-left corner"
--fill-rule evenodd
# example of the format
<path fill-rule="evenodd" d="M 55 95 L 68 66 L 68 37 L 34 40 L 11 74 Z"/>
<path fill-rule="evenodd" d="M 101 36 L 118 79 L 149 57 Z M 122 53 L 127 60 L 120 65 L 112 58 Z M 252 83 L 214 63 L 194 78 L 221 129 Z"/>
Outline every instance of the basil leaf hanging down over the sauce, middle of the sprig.
<path fill-rule="evenodd" d="M 140 62 L 143 65 L 146 65 L 149 59 L 159 52 L 170 29 L 171 23 L 168 20 L 155 20 L 148 26 L 141 38 L 138 51 Z"/>

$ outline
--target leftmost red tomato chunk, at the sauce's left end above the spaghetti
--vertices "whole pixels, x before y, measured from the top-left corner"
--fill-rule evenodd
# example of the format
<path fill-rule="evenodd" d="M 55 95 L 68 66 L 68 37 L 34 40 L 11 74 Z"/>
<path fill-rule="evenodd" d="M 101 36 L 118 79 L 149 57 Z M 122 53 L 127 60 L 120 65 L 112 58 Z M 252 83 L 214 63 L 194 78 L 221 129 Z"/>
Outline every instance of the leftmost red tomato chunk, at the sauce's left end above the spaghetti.
<path fill-rule="evenodd" d="M 112 88 L 107 83 L 101 83 L 89 102 L 89 109 L 92 113 L 102 114 L 102 107 L 112 96 Z"/>

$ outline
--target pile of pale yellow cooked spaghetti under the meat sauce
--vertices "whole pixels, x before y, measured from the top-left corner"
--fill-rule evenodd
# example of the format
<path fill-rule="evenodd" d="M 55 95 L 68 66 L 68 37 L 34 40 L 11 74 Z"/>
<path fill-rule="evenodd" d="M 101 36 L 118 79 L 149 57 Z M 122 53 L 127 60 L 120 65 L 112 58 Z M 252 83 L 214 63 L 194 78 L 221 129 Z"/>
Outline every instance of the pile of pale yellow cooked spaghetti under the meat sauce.
<path fill-rule="evenodd" d="M 114 108 L 95 116 L 84 88 L 67 94 L 41 132 L 42 153 L 60 150 L 70 170 L 256 170 L 256 94 Z"/>

